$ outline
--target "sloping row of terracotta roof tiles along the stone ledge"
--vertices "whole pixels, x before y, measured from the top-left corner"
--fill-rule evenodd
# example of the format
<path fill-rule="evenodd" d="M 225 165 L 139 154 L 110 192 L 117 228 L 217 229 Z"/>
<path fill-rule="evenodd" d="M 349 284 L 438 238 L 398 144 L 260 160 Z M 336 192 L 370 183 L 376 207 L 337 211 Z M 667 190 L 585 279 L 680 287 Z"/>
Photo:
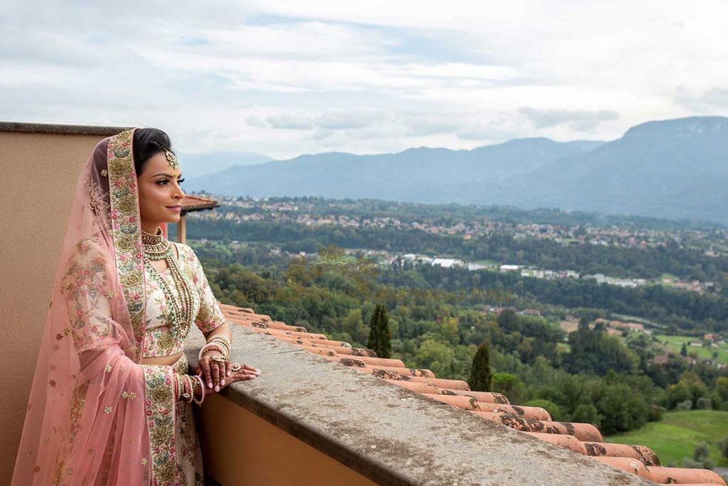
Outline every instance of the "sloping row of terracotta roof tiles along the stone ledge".
<path fill-rule="evenodd" d="M 601 433 L 590 423 L 554 422 L 545 409 L 510 404 L 502 393 L 472 391 L 462 380 L 438 378 L 429 369 L 407 368 L 401 360 L 379 358 L 373 350 L 352 348 L 348 342 L 328 340 L 325 334 L 309 333 L 301 326 L 273 321 L 269 315 L 257 314 L 247 307 L 225 304 L 220 304 L 220 307 L 234 324 L 290 342 L 309 353 L 339 361 L 393 385 L 423 393 L 430 399 L 515 428 L 658 484 L 728 486 L 718 474 L 707 469 L 660 467 L 660 460 L 649 447 L 602 442 Z"/>

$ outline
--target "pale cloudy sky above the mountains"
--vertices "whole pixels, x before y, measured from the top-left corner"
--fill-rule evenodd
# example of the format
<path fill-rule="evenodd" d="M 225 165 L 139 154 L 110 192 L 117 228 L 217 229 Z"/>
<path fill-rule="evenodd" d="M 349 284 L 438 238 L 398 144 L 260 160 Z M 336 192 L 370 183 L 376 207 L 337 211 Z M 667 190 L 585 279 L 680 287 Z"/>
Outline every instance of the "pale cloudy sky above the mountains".
<path fill-rule="evenodd" d="M 727 1 L 24 1 L 0 120 L 271 157 L 617 138 L 728 114 Z"/>

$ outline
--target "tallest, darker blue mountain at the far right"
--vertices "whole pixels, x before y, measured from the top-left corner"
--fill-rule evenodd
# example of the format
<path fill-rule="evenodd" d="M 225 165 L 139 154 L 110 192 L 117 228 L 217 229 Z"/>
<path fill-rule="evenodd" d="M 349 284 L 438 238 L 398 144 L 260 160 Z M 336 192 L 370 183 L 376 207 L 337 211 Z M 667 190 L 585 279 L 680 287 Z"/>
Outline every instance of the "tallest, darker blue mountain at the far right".
<path fill-rule="evenodd" d="M 725 223 L 727 188 L 728 118 L 691 117 L 637 125 L 591 152 L 512 177 L 488 199 Z"/>

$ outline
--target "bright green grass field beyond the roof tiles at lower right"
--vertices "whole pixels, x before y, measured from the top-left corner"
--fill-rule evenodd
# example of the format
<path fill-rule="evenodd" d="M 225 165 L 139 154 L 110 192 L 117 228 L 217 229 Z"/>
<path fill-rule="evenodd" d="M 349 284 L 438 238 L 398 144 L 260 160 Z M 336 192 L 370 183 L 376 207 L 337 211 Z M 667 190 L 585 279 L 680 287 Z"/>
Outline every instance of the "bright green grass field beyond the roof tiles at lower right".
<path fill-rule="evenodd" d="M 605 437 L 605 442 L 641 444 L 652 448 L 662 466 L 675 463 L 682 466 L 683 458 L 692 458 L 692 451 L 701 441 L 708 441 L 711 460 L 715 466 L 728 466 L 721 458 L 716 443 L 728 436 L 728 412 L 692 410 L 668 412 L 660 422 L 650 422 L 636 431 Z"/>

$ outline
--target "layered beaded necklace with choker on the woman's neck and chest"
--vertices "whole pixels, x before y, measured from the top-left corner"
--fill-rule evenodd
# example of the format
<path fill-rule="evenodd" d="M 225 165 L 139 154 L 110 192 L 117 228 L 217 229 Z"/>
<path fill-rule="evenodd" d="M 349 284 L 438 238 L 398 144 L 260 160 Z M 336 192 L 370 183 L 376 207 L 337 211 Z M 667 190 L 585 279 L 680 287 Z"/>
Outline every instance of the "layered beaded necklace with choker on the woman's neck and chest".
<path fill-rule="evenodd" d="M 144 266 L 149 270 L 154 279 L 159 282 L 167 302 L 170 304 L 172 313 L 172 324 L 170 331 L 175 340 L 184 340 L 189 334 L 189 325 L 192 322 L 193 294 L 189 283 L 175 258 L 175 250 L 164 235 L 162 230 L 157 230 L 157 235 L 146 231 L 141 232 L 141 240 L 144 246 Z M 150 262 L 165 260 L 170 269 L 170 275 L 178 290 L 179 297 L 175 296 L 170 285 L 162 278 L 159 271 Z"/>

